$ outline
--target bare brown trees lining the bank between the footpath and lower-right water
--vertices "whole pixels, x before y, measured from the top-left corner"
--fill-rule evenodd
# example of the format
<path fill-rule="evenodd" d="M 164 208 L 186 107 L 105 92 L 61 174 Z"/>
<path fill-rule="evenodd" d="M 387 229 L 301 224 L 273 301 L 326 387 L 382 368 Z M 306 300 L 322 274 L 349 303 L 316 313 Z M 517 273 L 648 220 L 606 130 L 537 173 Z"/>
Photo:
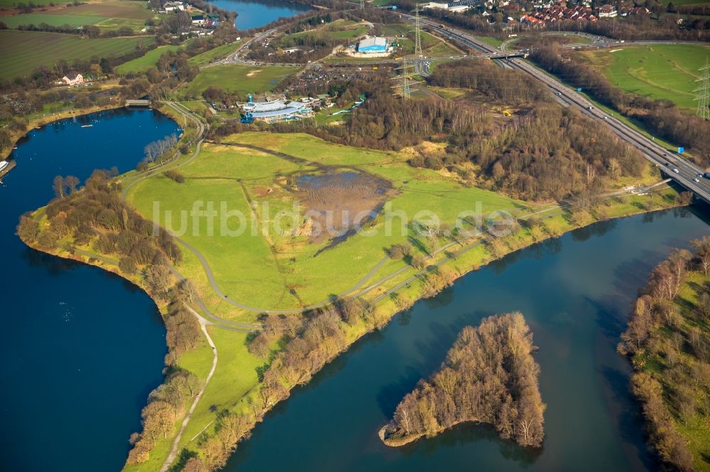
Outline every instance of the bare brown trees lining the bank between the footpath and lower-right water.
<path fill-rule="evenodd" d="M 346 332 L 354 325 L 375 330 L 386 323 L 373 306 L 361 298 L 342 298 L 324 308 L 300 316 L 259 317 L 263 329 L 247 338 L 249 352 L 261 359 L 259 384 L 246 396 L 248 408 L 241 413 L 224 410 L 217 427 L 204 433 L 185 452 L 182 471 L 214 471 L 222 468 L 237 444 L 249 437 L 256 422 L 290 395 L 289 390 L 307 383 L 327 362 L 348 346 Z"/>

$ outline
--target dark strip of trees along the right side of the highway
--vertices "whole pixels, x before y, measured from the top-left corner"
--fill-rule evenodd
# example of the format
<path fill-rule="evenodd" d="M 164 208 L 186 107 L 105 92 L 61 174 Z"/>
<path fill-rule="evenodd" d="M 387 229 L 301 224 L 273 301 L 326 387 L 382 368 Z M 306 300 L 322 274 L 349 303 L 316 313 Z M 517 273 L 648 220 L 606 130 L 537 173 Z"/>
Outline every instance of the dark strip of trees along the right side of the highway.
<path fill-rule="evenodd" d="M 537 47 L 532 60 L 557 74 L 568 84 L 582 87 L 601 103 L 638 120 L 656 136 L 677 143 L 693 152 L 693 158 L 703 167 L 710 164 L 710 121 L 682 111 L 667 100 L 654 100 L 622 91 L 594 68 L 581 64 L 574 57 L 565 57 L 555 47 Z"/>

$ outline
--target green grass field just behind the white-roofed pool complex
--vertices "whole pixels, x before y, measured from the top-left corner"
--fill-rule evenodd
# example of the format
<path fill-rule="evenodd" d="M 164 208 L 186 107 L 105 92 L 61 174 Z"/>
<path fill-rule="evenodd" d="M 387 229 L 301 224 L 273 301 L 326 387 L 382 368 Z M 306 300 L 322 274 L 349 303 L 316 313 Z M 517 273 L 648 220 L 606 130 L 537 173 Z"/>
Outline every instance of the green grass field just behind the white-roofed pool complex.
<path fill-rule="evenodd" d="M 273 90 L 284 77 L 297 70 L 288 66 L 219 65 L 202 69 L 182 90 L 187 96 L 199 96 L 209 86 L 240 94 L 263 93 Z"/>

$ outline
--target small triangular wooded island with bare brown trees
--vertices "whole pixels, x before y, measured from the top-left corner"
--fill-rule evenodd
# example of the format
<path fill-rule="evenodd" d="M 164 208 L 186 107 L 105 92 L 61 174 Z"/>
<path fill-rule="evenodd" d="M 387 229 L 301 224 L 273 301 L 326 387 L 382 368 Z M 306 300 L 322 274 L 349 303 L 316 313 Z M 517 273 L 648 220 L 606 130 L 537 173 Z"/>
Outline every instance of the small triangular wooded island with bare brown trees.
<path fill-rule="evenodd" d="M 380 439 L 402 446 L 459 423 L 481 422 L 496 427 L 503 439 L 542 446 L 545 404 L 535 349 L 530 327 L 517 312 L 464 327 L 441 369 L 403 398 Z"/>

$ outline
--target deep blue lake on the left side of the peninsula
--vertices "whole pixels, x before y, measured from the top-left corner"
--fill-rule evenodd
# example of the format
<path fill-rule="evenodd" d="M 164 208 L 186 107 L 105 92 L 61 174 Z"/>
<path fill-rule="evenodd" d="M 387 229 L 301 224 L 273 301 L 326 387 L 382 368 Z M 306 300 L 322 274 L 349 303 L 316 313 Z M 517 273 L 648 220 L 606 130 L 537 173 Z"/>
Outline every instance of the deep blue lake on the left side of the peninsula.
<path fill-rule="evenodd" d="M 82 124 L 93 124 L 81 128 Z M 19 216 L 55 175 L 135 167 L 180 132 L 151 110 L 104 111 L 33 130 L 0 185 L 0 451 L 4 471 L 116 471 L 160 383 L 165 328 L 146 293 L 101 269 L 29 249 Z"/>

